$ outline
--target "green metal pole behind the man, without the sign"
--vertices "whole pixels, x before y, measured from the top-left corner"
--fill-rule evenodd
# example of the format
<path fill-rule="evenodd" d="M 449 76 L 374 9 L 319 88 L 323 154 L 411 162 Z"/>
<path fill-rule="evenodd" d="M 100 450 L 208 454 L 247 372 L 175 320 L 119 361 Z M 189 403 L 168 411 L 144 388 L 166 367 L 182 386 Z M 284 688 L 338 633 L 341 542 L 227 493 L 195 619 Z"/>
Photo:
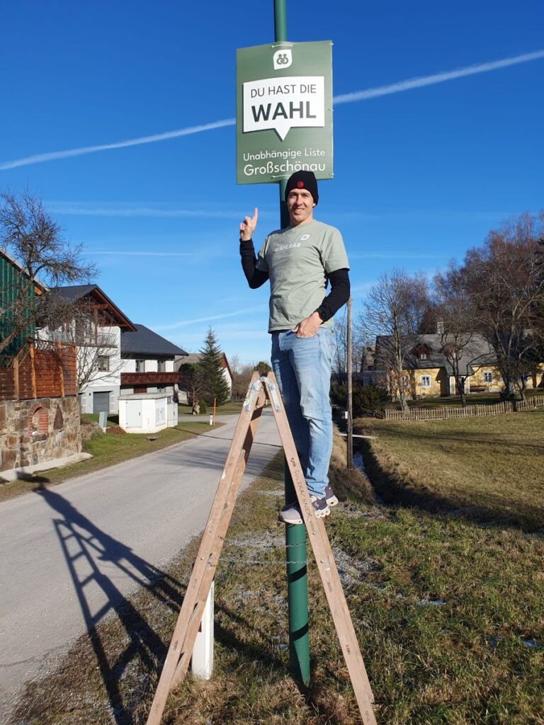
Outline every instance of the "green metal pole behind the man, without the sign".
<path fill-rule="evenodd" d="M 274 40 L 287 41 L 287 11 L 285 0 L 274 0 Z M 285 203 L 287 181 L 279 183 L 279 210 L 281 228 L 289 225 L 289 212 Z M 285 502 L 297 501 L 287 461 L 284 461 Z M 289 608 L 289 668 L 292 675 L 310 682 L 310 636 L 308 632 L 308 569 L 306 566 L 306 527 L 304 524 L 285 525 L 287 557 L 287 602 Z M 297 562 L 297 563 L 293 563 Z M 300 562 L 300 563 L 298 563 Z"/>

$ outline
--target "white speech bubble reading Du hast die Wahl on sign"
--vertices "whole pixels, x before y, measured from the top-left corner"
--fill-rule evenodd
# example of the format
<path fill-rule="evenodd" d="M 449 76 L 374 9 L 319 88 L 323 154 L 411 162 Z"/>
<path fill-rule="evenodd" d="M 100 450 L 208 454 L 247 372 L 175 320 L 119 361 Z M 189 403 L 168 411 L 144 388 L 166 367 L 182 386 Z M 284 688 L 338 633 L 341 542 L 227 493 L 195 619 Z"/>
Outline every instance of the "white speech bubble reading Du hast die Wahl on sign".
<path fill-rule="evenodd" d="M 243 132 L 273 129 L 281 141 L 291 128 L 325 125 L 323 75 L 284 75 L 243 84 Z"/>

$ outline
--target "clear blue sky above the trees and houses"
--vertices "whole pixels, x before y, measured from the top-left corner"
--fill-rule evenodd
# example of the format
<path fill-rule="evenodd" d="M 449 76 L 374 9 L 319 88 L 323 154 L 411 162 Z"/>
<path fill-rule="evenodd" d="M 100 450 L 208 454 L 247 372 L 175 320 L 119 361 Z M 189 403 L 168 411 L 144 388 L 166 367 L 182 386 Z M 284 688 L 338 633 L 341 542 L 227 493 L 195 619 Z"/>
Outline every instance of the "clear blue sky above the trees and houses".
<path fill-rule="evenodd" d="M 236 185 L 234 126 L 33 157 L 234 118 L 235 50 L 273 41 L 272 0 L 19 0 L 2 16 L 0 188 L 41 194 L 133 322 L 189 351 L 211 324 L 227 355 L 268 359 L 268 286 L 247 287 L 237 229 L 257 205 L 260 244 L 278 191 Z M 336 105 L 316 210 L 344 236 L 355 311 L 393 266 L 432 274 L 544 207 L 543 23 L 540 0 L 287 0 L 289 40 L 334 43 L 334 96 L 384 87 Z M 429 80 L 390 88 L 413 78 Z"/>

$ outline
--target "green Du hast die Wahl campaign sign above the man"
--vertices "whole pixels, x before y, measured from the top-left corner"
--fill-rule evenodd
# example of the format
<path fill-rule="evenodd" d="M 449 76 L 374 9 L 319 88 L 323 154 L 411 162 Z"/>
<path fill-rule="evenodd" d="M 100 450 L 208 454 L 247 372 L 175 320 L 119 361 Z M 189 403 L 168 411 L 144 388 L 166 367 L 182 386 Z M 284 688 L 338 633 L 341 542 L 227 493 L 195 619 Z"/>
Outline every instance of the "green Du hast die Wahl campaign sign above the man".
<path fill-rule="evenodd" d="M 332 43 L 236 51 L 236 181 L 332 178 Z"/>

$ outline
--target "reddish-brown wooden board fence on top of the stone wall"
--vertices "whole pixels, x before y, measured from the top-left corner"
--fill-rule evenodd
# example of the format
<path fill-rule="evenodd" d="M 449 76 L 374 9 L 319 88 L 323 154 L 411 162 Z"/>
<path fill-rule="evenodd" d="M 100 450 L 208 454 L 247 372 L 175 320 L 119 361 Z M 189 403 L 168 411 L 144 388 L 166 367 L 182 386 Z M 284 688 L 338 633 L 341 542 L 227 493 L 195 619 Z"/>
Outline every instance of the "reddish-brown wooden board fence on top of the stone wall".
<path fill-rule="evenodd" d="M 76 354 L 73 345 L 30 340 L 16 357 L 0 367 L 0 400 L 75 395 Z"/>

